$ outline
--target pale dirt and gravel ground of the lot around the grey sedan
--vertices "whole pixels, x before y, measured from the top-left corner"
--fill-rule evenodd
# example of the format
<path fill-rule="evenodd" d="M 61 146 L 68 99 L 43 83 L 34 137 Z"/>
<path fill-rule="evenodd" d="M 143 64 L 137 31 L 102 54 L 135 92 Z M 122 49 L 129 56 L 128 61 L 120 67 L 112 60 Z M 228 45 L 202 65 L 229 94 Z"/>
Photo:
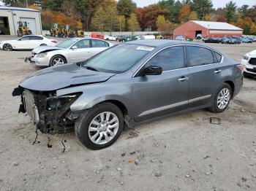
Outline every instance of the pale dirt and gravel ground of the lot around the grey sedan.
<path fill-rule="evenodd" d="M 212 45 L 238 60 L 256 49 Z M 140 125 L 99 151 L 83 147 L 73 133 L 50 136 L 48 148 L 42 133 L 32 145 L 35 126 L 18 114 L 20 100 L 11 95 L 37 71 L 23 62 L 29 54 L 0 51 L 0 190 L 256 190 L 256 79 L 244 79 L 222 114 L 200 110 Z"/>

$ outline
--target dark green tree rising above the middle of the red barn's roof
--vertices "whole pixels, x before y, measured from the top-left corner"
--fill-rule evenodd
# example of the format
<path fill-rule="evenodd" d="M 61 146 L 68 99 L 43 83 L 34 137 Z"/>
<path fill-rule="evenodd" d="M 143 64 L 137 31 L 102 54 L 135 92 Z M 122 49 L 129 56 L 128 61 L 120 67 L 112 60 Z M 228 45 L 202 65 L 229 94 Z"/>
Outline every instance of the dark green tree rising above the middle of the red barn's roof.
<path fill-rule="evenodd" d="M 204 20 L 204 17 L 212 12 L 213 4 L 211 0 L 193 0 L 191 3 L 192 11 L 197 12 L 197 17 Z"/>

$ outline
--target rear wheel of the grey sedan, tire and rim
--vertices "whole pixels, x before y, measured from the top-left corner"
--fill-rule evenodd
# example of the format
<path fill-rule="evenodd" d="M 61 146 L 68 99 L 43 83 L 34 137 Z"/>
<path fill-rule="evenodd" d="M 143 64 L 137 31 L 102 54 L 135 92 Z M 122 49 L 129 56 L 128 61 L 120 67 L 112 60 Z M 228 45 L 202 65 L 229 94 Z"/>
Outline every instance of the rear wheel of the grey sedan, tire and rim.
<path fill-rule="evenodd" d="M 224 112 L 230 104 L 231 98 L 232 89 L 230 85 L 223 83 L 223 85 L 219 87 L 217 93 L 214 95 L 214 103 L 209 110 L 214 113 Z"/>

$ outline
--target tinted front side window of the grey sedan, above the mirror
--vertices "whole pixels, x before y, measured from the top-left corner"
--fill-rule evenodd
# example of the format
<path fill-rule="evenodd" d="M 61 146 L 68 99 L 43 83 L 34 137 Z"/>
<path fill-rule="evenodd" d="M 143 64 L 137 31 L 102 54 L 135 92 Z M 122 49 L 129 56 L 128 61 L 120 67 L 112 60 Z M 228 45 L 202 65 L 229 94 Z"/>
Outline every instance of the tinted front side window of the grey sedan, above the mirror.
<path fill-rule="evenodd" d="M 183 47 L 170 47 L 154 55 L 148 63 L 148 66 L 160 66 L 162 71 L 181 69 L 184 67 Z"/>

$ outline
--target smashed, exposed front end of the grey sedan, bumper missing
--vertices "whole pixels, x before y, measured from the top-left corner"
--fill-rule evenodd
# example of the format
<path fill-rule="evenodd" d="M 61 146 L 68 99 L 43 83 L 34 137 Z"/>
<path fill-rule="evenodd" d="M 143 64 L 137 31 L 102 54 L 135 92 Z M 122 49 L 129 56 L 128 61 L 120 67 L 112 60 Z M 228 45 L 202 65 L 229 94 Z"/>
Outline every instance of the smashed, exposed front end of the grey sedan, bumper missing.
<path fill-rule="evenodd" d="M 20 95 L 19 113 L 27 113 L 42 133 L 65 133 L 74 130 L 78 113 L 71 112 L 70 106 L 81 93 L 56 96 L 55 91 L 34 91 L 17 87 L 13 96 Z"/>

